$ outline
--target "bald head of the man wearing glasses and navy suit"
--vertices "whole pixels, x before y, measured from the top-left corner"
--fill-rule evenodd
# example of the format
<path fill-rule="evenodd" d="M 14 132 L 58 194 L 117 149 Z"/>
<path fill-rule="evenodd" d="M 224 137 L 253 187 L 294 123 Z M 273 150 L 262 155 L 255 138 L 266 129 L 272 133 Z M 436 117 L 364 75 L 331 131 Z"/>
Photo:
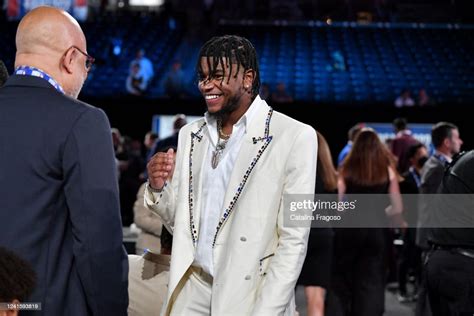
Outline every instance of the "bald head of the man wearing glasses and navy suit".
<path fill-rule="evenodd" d="M 39 68 L 77 98 L 87 78 L 87 45 L 69 13 L 48 6 L 31 10 L 18 25 L 16 49 L 15 67 Z"/>

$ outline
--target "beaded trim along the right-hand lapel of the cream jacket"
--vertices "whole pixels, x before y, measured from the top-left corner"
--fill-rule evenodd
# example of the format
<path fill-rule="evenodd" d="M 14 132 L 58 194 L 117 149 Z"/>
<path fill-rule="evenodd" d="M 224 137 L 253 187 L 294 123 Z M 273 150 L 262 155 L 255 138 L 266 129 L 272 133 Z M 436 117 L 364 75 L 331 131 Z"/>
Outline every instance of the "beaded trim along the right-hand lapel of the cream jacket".
<path fill-rule="evenodd" d="M 225 209 L 224 214 L 222 215 L 221 219 L 219 220 L 219 224 L 217 225 L 217 228 L 216 228 L 216 234 L 214 235 L 214 240 L 212 242 L 212 248 L 214 248 L 214 246 L 216 244 L 217 235 L 219 234 L 220 229 L 222 228 L 222 226 L 224 225 L 224 223 L 230 217 L 230 214 L 234 210 L 234 206 L 235 206 L 235 204 L 237 204 L 237 200 L 239 199 L 240 194 L 242 193 L 242 191 L 245 187 L 245 184 L 247 183 L 247 179 L 250 177 L 250 174 L 252 173 L 253 168 L 255 167 L 258 160 L 262 156 L 263 152 L 265 151 L 265 149 L 268 147 L 268 145 L 270 144 L 270 142 L 273 139 L 273 136 L 268 135 L 270 133 L 270 120 L 272 118 L 272 114 L 273 114 L 273 109 L 270 108 L 270 110 L 268 111 L 268 114 L 267 114 L 267 119 L 265 121 L 265 134 L 264 134 L 264 136 L 263 137 L 253 137 L 252 138 L 252 141 L 253 141 L 254 145 L 257 144 L 260 141 L 263 141 L 264 144 L 259 149 L 259 151 L 257 153 L 257 156 L 255 158 L 253 158 L 253 160 L 250 163 L 250 166 L 248 167 L 247 171 L 245 171 L 244 177 L 243 177 L 242 181 L 240 182 L 239 186 L 237 187 L 237 192 L 235 193 L 234 197 L 232 198 L 232 201 L 230 201 L 229 206 Z"/>

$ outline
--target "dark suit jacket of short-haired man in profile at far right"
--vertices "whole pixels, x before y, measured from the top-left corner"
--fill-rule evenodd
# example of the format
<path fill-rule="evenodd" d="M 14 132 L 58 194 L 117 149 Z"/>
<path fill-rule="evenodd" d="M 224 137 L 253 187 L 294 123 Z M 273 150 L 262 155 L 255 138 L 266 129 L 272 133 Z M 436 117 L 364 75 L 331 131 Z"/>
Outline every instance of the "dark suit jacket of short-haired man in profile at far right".
<path fill-rule="evenodd" d="M 435 156 L 431 156 L 421 169 L 420 208 L 418 210 L 418 229 L 416 244 L 428 249 L 428 230 L 423 227 L 430 226 L 430 211 L 433 208 L 433 197 L 430 195 L 438 192 L 438 187 L 443 180 L 445 166 Z"/>

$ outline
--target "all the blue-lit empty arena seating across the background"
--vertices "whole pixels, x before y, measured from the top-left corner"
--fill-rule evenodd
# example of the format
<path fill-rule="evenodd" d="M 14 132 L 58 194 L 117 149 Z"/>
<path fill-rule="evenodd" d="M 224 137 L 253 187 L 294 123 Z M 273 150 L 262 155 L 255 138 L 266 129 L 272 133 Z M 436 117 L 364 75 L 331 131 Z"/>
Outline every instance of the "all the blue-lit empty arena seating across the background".
<path fill-rule="evenodd" d="M 1 22 L 0 58 L 13 66 L 16 24 Z M 284 24 L 284 23 L 283 23 Z M 172 61 L 180 59 L 191 96 L 198 96 L 194 67 L 202 40 L 170 29 L 158 16 L 104 16 L 83 24 L 90 55 L 97 58 L 84 95 L 125 93 L 129 63 L 139 48 L 155 67 L 149 97 L 164 94 Z M 256 32 L 258 30 L 258 32 Z M 425 88 L 437 103 L 474 102 L 473 26 L 305 22 L 299 25 L 221 25 L 221 34 L 240 34 L 256 46 L 261 81 L 273 89 L 284 82 L 298 101 L 335 104 L 393 104 L 402 89 L 415 97 Z M 112 41 L 121 39 L 114 60 Z M 335 67 L 339 54 L 343 68 Z M 339 59 L 341 64 L 341 58 Z"/>

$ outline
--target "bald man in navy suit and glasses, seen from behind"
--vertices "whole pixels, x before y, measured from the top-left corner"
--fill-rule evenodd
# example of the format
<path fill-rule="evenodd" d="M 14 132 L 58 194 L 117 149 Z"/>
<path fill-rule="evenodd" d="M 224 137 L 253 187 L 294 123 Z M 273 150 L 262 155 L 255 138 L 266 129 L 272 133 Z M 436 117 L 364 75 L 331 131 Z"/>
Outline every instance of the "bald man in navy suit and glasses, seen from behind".
<path fill-rule="evenodd" d="M 0 89 L 0 246 L 38 277 L 34 315 L 126 315 L 110 125 L 77 100 L 93 58 L 68 13 L 39 7 L 20 22 L 14 74 Z"/>

